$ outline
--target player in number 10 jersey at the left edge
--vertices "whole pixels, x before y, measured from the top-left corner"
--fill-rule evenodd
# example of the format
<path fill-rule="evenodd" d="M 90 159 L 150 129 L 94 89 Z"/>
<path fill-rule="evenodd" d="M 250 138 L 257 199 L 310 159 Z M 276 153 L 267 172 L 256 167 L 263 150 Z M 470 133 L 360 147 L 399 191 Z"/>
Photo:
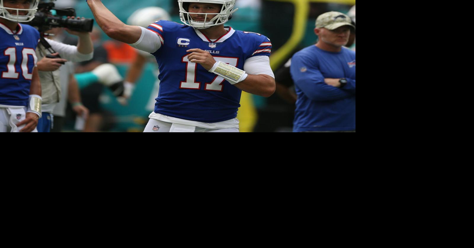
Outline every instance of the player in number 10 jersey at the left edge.
<path fill-rule="evenodd" d="M 41 85 L 36 68 L 39 32 L 28 25 L 39 0 L 0 0 L 0 132 L 36 132 Z"/>

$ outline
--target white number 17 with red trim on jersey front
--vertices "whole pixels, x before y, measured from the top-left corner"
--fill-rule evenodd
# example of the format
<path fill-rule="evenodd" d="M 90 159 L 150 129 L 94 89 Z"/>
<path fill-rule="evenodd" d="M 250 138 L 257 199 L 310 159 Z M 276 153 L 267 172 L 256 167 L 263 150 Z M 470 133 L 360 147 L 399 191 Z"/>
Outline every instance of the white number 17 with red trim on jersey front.
<path fill-rule="evenodd" d="M 188 60 L 188 55 L 186 54 L 182 57 L 181 62 L 186 63 L 186 81 L 180 82 L 180 89 L 201 89 L 201 82 L 196 82 L 196 71 L 198 68 L 197 63 L 190 62 Z M 219 56 L 212 56 L 216 61 L 222 61 L 227 63 L 231 66 L 237 67 L 238 65 L 238 58 L 232 57 L 219 57 Z M 222 91 L 224 87 L 224 79 L 223 77 L 217 76 L 214 77 L 212 82 L 206 83 L 204 86 L 204 90 L 209 91 Z"/>

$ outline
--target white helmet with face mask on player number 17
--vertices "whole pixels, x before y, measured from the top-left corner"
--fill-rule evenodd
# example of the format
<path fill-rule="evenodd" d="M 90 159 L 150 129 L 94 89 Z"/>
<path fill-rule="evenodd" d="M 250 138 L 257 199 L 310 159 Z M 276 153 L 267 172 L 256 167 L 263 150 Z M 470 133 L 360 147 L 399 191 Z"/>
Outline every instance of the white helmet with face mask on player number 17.
<path fill-rule="evenodd" d="M 222 9 L 220 9 L 219 13 L 215 14 L 206 14 L 206 13 L 191 13 L 189 11 L 190 3 L 214 3 L 214 4 L 222 4 Z M 236 0 L 178 0 L 179 4 L 179 16 L 181 18 L 181 22 L 186 24 L 187 26 L 192 26 L 197 29 L 205 29 L 211 26 L 218 26 L 226 23 L 230 18 L 232 18 L 232 14 L 237 11 L 234 9 L 236 4 Z M 190 14 L 196 15 L 204 15 L 205 20 L 207 20 L 208 15 L 216 15 L 210 21 L 206 22 L 199 22 L 192 20 Z"/>

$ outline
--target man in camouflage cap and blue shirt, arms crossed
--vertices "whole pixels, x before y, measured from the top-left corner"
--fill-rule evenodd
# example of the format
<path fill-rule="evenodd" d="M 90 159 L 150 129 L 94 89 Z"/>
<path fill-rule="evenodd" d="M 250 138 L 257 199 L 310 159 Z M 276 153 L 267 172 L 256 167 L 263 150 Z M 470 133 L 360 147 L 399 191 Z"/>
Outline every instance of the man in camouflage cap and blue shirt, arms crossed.
<path fill-rule="evenodd" d="M 356 52 L 343 47 L 352 28 L 343 13 L 321 14 L 314 29 L 318 43 L 293 56 L 293 132 L 356 131 Z"/>

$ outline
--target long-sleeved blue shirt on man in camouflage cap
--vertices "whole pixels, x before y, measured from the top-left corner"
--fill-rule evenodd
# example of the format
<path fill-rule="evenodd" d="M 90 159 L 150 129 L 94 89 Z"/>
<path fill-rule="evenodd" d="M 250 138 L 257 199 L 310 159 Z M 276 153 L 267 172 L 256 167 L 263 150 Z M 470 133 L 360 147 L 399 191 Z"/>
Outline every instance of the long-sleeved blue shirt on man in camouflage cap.
<path fill-rule="evenodd" d="M 312 45 L 292 58 L 296 101 L 294 132 L 356 130 L 356 52 L 330 52 Z M 324 78 L 347 79 L 343 88 Z"/>

